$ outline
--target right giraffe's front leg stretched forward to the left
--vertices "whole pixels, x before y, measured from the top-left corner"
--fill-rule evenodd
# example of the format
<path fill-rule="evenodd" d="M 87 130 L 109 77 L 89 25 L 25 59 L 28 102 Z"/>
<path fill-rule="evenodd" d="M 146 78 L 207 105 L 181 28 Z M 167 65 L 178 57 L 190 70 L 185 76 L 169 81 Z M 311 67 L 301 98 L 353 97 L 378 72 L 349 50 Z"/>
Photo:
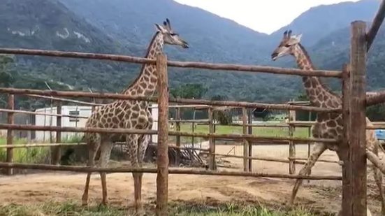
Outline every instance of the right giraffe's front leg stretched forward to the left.
<path fill-rule="evenodd" d="M 312 152 L 310 152 L 310 157 L 307 159 L 305 165 L 303 168 L 300 169 L 300 172 L 298 175 L 307 175 L 312 170 L 312 167 L 316 163 L 319 156 L 325 152 L 327 149 L 326 145 L 324 143 L 314 143 L 314 146 L 312 148 Z M 289 201 L 289 205 L 292 206 L 294 203 L 294 199 L 296 198 L 298 189 L 300 185 L 302 184 L 303 179 L 297 179 L 296 184 L 293 187 L 293 191 L 291 192 L 291 198 Z"/>

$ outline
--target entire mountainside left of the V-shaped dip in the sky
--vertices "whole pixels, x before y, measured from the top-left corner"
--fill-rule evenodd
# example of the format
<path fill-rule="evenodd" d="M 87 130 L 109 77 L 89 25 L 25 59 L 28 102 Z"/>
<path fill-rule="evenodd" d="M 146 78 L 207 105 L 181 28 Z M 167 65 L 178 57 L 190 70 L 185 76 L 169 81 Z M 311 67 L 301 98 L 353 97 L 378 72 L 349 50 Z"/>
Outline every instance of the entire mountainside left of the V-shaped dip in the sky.
<path fill-rule="evenodd" d="M 118 6 L 114 3 L 118 3 Z M 144 56 L 155 32 L 154 23 L 162 22 L 168 17 L 173 28 L 191 47 L 183 50 L 168 46 L 166 54 L 169 59 L 244 64 L 270 62 L 268 55 L 260 54 L 262 50 L 259 44 L 267 37 L 266 34 L 175 1 L 8 0 L 3 1 L 0 6 L 1 15 L 7 17 L 0 22 L 3 26 L 12 27 L 9 31 L 0 31 L 1 36 L 6 39 L 0 44 L 3 47 Z M 76 7 L 85 8 L 77 10 Z M 92 20 L 92 17 L 96 18 Z M 23 25 L 38 26 L 40 30 L 34 31 L 34 34 L 25 34 Z M 112 27 L 117 29 L 114 31 Z M 66 34 L 65 29 L 70 34 L 68 37 L 62 36 Z M 22 35 L 15 33 L 16 31 L 22 32 Z M 90 38 L 90 41 L 78 37 L 74 31 Z M 90 87 L 96 91 L 119 92 L 138 75 L 139 67 L 107 61 L 17 56 L 17 71 L 33 74 L 34 77 L 41 76 L 43 80 L 56 80 L 73 89 L 82 90 Z M 282 89 L 283 92 L 291 92 L 291 86 L 271 85 L 271 82 L 266 82 L 273 80 L 272 77 L 273 75 L 267 74 L 221 73 L 196 69 L 170 69 L 169 75 L 171 87 L 185 83 L 203 83 L 208 88 L 208 94 L 205 95 L 207 98 L 221 94 L 227 95 L 229 99 L 249 101 L 284 100 L 287 95 L 275 92 Z M 277 78 L 279 79 L 281 78 Z M 43 85 L 41 88 L 46 87 Z"/>

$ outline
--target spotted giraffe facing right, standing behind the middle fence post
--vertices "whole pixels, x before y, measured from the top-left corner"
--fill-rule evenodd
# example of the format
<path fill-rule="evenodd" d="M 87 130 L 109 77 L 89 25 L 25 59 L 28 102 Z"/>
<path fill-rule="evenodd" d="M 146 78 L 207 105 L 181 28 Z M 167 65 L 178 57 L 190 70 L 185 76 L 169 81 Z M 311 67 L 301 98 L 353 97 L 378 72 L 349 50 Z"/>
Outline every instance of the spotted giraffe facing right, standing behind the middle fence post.
<path fill-rule="evenodd" d="M 155 59 L 163 52 L 164 44 L 178 45 L 182 48 L 189 48 L 189 44 L 175 33 L 170 21 L 166 19 L 163 26 L 155 24 L 157 29 L 147 48 L 146 58 Z M 122 94 L 153 96 L 157 90 L 157 66 L 154 64 L 144 64 L 136 80 L 129 85 Z M 152 129 L 152 115 L 147 101 L 128 101 L 117 100 L 107 103 L 95 110 L 88 118 L 85 127 L 99 128 L 125 128 L 125 129 Z M 106 167 L 110 159 L 112 143 L 125 141 L 123 151 L 131 161 L 131 166 L 142 166 L 145 150 L 150 142 L 150 135 L 139 134 L 98 134 L 86 133 L 84 139 L 89 151 L 87 166 L 95 166 L 96 152 L 100 150 L 99 163 L 97 166 Z M 106 173 L 100 173 L 102 186 L 102 204 L 106 205 L 107 186 Z M 141 187 L 143 173 L 133 173 L 135 208 L 138 213 L 143 210 L 141 203 Z M 85 190 L 82 195 L 82 205 L 86 206 L 88 201 L 89 180 L 91 173 L 87 173 Z"/>

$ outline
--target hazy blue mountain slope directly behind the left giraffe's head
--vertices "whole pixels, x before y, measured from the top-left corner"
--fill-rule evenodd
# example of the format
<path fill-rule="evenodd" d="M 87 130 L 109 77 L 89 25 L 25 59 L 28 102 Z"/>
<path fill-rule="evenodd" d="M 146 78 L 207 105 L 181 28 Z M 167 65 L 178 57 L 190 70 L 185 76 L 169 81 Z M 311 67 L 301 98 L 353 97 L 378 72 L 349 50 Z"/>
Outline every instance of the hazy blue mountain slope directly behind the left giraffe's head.
<path fill-rule="evenodd" d="M 190 45 L 189 50 L 167 47 L 165 50 L 168 59 L 240 64 L 271 62 L 266 49 L 261 45 L 268 40 L 268 35 L 200 8 L 172 0 L 60 1 L 124 46 L 137 48 L 138 52 L 128 52 L 127 55 L 143 56 L 148 41 L 154 34 L 154 22 L 162 22 L 168 17 L 173 29 Z M 282 78 L 269 74 L 220 73 L 197 69 L 170 69 L 169 74 L 171 87 L 185 83 L 203 83 L 208 88 L 206 97 L 209 98 L 221 94 L 233 100 L 273 101 L 285 100 L 287 97 L 274 92 L 282 89 L 289 94 L 292 92 L 290 85 L 273 85 Z"/>

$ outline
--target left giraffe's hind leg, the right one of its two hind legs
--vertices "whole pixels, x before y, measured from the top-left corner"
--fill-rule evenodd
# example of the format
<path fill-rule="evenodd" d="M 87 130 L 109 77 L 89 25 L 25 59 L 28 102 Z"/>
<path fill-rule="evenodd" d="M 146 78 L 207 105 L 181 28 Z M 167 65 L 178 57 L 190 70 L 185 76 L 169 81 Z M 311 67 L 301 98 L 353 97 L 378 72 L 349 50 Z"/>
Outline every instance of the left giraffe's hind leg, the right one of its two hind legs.
<path fill-rule="evenodd" d="M 100 158 L 99 158 L 99 167 L 106 168 L 108 161 L 110 160 L 110 154 L 112 150 L 112 143 L 102 141 L 100 147 Z M 102 205 L 107 204 L 108 196 L 107 196 L 107 181 L 106 181 L 106 173 L 101 172 L 101 191 L 102 191 Z"/>

